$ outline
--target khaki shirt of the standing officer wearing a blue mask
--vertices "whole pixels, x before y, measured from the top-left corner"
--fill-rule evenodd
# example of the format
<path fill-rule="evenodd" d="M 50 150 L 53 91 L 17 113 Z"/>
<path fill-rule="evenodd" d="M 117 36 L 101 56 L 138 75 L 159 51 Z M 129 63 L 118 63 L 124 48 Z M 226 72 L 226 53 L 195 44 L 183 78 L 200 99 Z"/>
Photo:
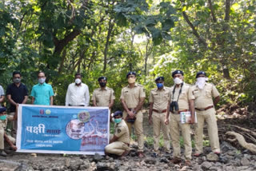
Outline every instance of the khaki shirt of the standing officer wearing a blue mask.
<path fill-rule="evenodd" d="M 153 103 L 153 109 L 164 110 L 170 101 L 170 88 L 152 89 L 150 91 L 150 103 Z"/>

